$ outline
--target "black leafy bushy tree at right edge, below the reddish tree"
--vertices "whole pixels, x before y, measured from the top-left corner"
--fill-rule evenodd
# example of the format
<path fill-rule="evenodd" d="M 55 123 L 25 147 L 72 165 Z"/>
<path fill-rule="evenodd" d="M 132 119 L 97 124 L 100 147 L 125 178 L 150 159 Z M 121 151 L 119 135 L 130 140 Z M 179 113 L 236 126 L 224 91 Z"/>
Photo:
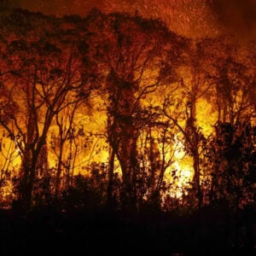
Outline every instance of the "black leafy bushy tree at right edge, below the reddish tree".
<path fill-rule="evenodd" d="M 255 127 L 249 123 L 218 123 L 210 145 L 212 203 L 225 203 L 233 211 L 252 206 L 255 183 Z"/>

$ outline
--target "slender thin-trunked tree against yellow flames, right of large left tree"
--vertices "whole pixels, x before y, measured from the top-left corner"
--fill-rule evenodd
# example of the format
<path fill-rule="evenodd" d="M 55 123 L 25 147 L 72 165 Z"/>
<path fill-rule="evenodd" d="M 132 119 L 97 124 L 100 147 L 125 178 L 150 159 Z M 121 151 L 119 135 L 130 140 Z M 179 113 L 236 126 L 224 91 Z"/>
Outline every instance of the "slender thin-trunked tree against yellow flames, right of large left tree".
<path fill-rule="evenodd" d="M 75 168 L 83 165 L 83 161 L 78 162 L 77 158 L 83 156 L 84 149 L 90 146 L 87 145 L 90 136 L 85 134 L 84 126 L 79 122 L 77 114 L 83 111 L 83 108 L 81 109 L 83 103 L 83 101 L 76 102 L 62 109 L 55 115 L 53 127 L 50 129 L 50 148 L 57 158 L 55 199 L 58 198 L 61 189 L 61 178 L 63 178 L 61 176 L 66 175 L 65 187 L 68 189 L 72 185 Z"/>

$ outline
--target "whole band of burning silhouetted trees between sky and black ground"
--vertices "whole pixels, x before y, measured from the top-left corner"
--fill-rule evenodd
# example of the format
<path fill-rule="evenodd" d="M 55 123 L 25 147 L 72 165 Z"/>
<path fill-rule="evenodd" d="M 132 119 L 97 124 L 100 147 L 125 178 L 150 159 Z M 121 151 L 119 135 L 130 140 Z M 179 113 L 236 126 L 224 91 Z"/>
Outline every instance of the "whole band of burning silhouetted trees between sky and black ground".
<path fill-rule="evenodd" d="M 118 207 L 230 201 L 219 183 L 241 187 L 236 207 L 252 203 L 253 42 L 183 38 L 161 20 L 97 9 L 18 9 L 1 23 L 3 206 L 58 200 L 92 175 L 101 203 Z"/>

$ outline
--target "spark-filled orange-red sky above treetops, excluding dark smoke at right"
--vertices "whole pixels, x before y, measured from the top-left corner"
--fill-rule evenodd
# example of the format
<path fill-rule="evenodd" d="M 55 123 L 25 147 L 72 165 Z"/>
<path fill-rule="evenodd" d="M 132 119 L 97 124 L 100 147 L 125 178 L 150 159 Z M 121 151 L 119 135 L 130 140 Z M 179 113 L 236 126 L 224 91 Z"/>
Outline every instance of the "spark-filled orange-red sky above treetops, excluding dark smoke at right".
<path fill-rule="evenodd" d="M 125 12 L 134 15 L 137 12 L 145 18 L 161 19 L 173 32 L 189 38 L 218 34 L 216 15 L 208 0 L 22 0 L 20 3 L 22 8 L 57 16 L 84 17 L 93 8 L 107 13 Z"/>

